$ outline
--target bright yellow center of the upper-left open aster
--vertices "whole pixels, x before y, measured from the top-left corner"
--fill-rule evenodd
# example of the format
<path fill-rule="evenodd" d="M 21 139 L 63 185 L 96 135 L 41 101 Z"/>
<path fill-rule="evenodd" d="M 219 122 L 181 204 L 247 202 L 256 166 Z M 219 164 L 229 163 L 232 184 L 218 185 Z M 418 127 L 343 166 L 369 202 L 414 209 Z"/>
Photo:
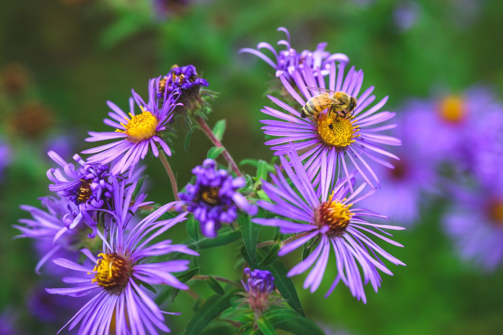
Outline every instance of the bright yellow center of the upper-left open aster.
<path fill-rule="evenodd" d="M 116 129 L 116 132 L 124 133 L 127 135 L 127 139 L 131 142 L 138 143 L 147 140 L 155 135 L 155 129 L 159 124 L 156 117 L 152 115 L 148 110 L 143 109 L 141 114 L 132 115 L 129 113 L 131 119 L 124 118 L 127 124 L 121 123 L 125 130 Z"/>

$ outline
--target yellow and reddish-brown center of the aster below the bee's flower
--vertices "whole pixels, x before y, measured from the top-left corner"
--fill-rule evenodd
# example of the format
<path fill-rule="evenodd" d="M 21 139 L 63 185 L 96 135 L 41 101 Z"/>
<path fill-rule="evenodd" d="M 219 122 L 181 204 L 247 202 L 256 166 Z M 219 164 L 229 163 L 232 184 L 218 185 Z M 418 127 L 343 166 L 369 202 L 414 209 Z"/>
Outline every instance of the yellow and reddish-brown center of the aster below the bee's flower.
<path fill-rule="evenodd" d="M 353 205 L 343 204 L 339 200 L 332 200 L 333 193 L 328 198 L 328 201 L 323 202 L 316 208 L 314 212 L 314 220 L 319 227 L 328 226 L 328 234 L 332 236 L 341 236 L 346 232 L 350 224 L 350 220 L 354 213 L 350 207 Z"/>

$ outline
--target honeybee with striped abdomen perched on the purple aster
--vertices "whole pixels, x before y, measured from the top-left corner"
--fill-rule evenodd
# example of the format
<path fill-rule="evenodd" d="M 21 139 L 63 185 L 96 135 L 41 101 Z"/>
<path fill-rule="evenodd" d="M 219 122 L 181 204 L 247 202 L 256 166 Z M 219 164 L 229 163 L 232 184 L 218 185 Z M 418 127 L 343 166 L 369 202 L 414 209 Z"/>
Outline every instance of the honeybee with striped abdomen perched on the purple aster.
<path fill-rule="evenodd" d="M 342 117 L 350 114 L 350 117 L 355 113 L 357 99 L 348 95 L 345 92 L 335 92 L 329 89 L 320 87 L 307 86 L 308 90 L 315 92 L 317 95 L 310 98 L 306 105 L 302 107 L 300 116 L 302 118 L 314 117 L 320 114 L 323 110 L 328 108 L 328 113 L 336 113 L 336 118 L 339 113 Z"/>

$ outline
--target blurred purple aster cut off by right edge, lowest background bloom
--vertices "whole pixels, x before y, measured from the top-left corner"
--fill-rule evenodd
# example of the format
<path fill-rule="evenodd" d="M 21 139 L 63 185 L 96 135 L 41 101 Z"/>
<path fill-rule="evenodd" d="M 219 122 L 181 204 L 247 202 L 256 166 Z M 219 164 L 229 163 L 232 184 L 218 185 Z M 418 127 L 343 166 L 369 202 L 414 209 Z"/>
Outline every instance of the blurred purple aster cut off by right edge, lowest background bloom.
<path fill-rule="evenodd" d="M 454 204 L 443 219 L 461 258 L 486 271 L 503 262 L 502 185 L 454 190 Z"/>

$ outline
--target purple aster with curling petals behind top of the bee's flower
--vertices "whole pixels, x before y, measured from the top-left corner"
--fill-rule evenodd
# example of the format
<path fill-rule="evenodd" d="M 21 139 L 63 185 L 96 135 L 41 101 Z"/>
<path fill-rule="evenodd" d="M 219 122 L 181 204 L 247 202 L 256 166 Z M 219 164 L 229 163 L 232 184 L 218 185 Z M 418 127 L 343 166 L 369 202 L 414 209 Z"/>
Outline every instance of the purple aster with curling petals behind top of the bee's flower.
<path fill-rule="evenodd" d="M 295 71 L 309 69 L 310 72 L 317 75 L 317 71 L 319 70 L 321 75 L 325 76 L 330 72 L 330 66 L 334 61 L 346 64 L 349 63 L 349 58 L 345 54 L 330 54 L 328 51 L 325 51 L 327 46 L 326 42 L 319 43 L 315 51 L 304 50 L 299 53 L 290 46 L 290 33 L 288 30 L 284 27 L 280 27 L 278 31 L 282 31 L 286 34 L 287 40 L 281 40 L 277 43 L 278 45 L 286 46 L 286 50 L 277 52 L 271 44 L 261 42 L 257 45 L 257 50 L 243 48 L 239 50 L 239 53 L 248 52 L 258 56 L 276 70 L 277 77 L 282 75 L 287 80 L 292 79 Z M 259 51 L 260 49 L 268 49 L 276 59 L 272 60 L 269 56 Z"/>

